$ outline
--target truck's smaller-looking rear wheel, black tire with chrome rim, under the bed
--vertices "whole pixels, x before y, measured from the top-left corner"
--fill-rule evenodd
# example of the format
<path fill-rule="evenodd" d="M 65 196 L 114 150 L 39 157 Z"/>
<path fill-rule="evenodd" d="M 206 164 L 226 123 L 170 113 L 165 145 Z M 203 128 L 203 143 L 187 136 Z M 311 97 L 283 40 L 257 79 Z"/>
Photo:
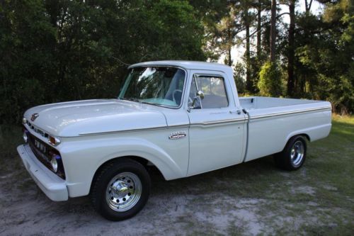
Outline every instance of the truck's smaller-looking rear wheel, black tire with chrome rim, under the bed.
<path fill-rule="evenodd" d="M 305 138 L 303 136 L 292 137 L 282 152 L 274 154 L 275 165 L 288 171 L 297 170 L 304 164 L 306 151 L 307 143 Z"/>

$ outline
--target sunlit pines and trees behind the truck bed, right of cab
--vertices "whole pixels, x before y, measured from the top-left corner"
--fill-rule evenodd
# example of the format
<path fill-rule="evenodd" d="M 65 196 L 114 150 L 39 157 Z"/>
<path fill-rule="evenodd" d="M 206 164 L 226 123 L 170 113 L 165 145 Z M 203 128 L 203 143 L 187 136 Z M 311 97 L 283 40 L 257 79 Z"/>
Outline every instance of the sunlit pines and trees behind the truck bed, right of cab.
<path fill-rule="evenodd" d="M 301 1 L 304 11 L 295 11 Z M 224 63 L 234 64 L 241 93 L 327 100 L 336 112 L 353 113 L 353 1 L 317 2 L 319 15 L 312 0 L 229 1 L 210 35 Z M 231 53 L 239 45 L 246 49 L 241 62 Z"/>

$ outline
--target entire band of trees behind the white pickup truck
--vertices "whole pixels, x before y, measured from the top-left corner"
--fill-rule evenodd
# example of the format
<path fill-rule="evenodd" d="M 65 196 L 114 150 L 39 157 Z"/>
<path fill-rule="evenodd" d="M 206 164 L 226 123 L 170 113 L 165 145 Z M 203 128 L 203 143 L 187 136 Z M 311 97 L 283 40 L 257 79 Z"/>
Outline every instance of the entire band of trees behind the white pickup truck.
<path fill-rule="evenodd" d="M 352 113 L 354 6 L 320 3 L 315 16 L 312 0 L 0 1 L 0 122 L 42 103 L 114 98 L 128 64 L 222 55 L 241 94 L 328 100 Z M 241 58 L 234 47 L 246 49 Z"/>

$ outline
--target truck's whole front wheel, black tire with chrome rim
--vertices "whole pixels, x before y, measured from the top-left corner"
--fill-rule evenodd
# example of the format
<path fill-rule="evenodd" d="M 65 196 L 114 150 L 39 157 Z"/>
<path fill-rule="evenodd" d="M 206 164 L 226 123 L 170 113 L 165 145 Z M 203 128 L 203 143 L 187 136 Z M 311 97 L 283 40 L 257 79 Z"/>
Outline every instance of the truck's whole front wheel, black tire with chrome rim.
<path fill-rule="evenodd" d="M 120 176 L 121 174 L 122 176 Z M 112 181 L 113 184 L 111 184 Z M 139 181 L 140 190 L 135 193 Z M 110 185 L 109 188 L 108 184 Z M 125 220 L 136 215 L 144 208 L 149 198 L 150 187 L 151 181 L 147 169 L 132 159 L 121 158 L 108 162 L 100 170 L 93 180 L 90 197 L 93 207 L 104 218 L 113 221 Z M 134 193 L 130 193 L 130 191 L 134 191 Z M 124 195 L 125 193 L 126 195 Z M 130 195 L 128 196 L 128 194 Z M 124 199 L 124 202 L 122 199 Z M 119 204 L 128 203 L 128 201 L 131 201 L 131 204 L 127 207 L 131 208 L 125 210 L 124 207 L 119 206 Z"/>

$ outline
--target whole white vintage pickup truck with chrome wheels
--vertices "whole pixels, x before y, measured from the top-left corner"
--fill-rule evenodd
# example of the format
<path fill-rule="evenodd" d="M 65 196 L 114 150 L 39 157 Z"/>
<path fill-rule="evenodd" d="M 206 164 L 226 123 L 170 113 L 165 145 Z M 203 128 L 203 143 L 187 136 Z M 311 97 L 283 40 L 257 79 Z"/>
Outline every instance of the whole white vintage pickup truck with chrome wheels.
<path fill-rule="evenodd" d="M 330 130 L 327 101 L 239 98 L 226 65 L 143 62 L 117 99 L 30 108 L 17 150 L 52 201 L 90 195 L 98 213 L 123 220 L 147 203 L 149 165 L 171 180 L 275 154 L 295 170 L 307 141 Z"/>

